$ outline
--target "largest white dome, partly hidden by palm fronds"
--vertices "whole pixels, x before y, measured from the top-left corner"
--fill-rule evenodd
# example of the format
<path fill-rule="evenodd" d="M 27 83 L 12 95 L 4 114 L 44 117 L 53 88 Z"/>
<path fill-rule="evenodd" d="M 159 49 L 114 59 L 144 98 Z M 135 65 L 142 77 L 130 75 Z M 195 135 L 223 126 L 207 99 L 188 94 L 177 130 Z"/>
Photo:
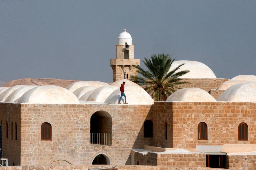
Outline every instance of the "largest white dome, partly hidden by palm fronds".
<path fill-rule="evenodd" d="M 197 61 L 180 60 L 174 61 L 169 71 L 175 69 L 180 64 L 185 63 L 178 71 L 189 70 L 189 72 L 180 78 L 216 78 L 213 71 L 204 63 Z"/>

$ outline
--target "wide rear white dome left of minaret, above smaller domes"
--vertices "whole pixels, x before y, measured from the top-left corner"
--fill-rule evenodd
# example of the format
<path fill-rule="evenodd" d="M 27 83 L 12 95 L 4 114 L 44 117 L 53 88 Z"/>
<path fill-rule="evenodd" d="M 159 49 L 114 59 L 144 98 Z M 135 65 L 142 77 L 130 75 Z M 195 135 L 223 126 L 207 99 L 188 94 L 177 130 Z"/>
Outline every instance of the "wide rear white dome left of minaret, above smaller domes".
<path fill-rule="evenodd" d="M 109 85 L 108 83 L 100 82 L 100 81 L 77 81 L 75 83 L 72 83 L 66 89 L 68 89 L 70 92 L 74 92 L 76 89 L 83 87 L 83 86 L 92 86 L 95 88 L 99 88 L 102 86 Z"/>

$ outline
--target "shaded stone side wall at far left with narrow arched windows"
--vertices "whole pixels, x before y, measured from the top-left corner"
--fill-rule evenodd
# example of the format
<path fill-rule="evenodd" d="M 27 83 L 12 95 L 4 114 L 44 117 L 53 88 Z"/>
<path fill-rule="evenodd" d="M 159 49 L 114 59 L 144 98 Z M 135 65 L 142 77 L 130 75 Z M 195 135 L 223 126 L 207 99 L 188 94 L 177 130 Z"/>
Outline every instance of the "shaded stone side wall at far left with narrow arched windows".
<path fill-rule="evenodd" d="M 6 138 L 6 121 L 8 123 L 8 139 Z M 3 157 L 8 158 L 9 165 L 20 165 L 20 104 L 0 102 L 0 123 L 1 122 Z M 17 124 L 17 140 L 15 122 Z"/>

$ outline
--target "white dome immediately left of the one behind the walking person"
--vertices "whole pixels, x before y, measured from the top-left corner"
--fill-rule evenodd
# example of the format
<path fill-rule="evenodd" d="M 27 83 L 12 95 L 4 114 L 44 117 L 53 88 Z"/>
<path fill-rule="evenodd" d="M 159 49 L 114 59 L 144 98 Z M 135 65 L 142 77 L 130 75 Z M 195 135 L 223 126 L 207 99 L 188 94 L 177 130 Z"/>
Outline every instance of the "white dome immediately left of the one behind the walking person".
<path fill-rule="evenodd" d="M 113 85 L 103 86 L 95 89 L 86 101 L 95 101 L 104 103 L 107 97 L 114 92 L 118 87 Z M 120 89 L 119 89 L 120 90 Z"/>

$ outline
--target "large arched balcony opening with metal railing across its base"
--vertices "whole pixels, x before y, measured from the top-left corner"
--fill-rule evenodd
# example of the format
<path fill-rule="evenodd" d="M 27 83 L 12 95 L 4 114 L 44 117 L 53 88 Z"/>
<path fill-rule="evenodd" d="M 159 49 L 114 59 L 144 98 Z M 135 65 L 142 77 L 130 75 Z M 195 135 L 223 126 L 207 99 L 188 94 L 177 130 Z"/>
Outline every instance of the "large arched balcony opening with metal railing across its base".
<path fill-rule="evenodd" d="M 112 118 L 106 111 L 91 116 L 90 144 L 111 145 Z"/>

